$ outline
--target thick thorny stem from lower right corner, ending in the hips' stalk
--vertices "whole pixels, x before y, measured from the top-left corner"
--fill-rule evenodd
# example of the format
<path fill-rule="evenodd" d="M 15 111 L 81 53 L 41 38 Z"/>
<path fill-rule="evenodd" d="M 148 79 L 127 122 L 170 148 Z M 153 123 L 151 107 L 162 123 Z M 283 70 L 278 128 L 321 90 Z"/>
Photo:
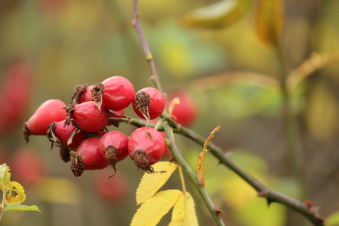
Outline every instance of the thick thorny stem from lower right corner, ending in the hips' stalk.
<path fill-rule="evenodd" d="M 179 133 L 191 140 L 199 143 L 200 145 L 204 145 L 206 142 L 206 138 L 203 138 L 198 133 L 187 129 L 184 126 L 177 124 L 172 119 L 166 118 L 168 121 L 171 121 L 171 126 L 173 127 L 174 133 Z M 129 119 L 121 119 L 121 118 L 110 118 L 109 121 L 115 122 L 129 122 Z M 133 126 L 143 127 L 145 126 L 145 121 L 140 119 L 131 119 L 130 124 Z M 149 127 L 154 127 L 155 124 L 148 124 Z M 158 131 L 164 131 L 164 126 L 160 126 Z M 304 215 L 307 219 L 309 219 L 316 226 L 323 226 L 324 218 L 318 213 L 318 209 L 314 208 L 314 206 L 308 206 L 305 203 L 295 200 L 294 198 L 290 198 L 289 196 L 285 196 L 283 194 L 278 193 L 272 189 L 269 189 L 267 186 L 258 181 L 255 177 L 253 177 L 249 172 L 242 169 L 237 163 L 233 162 L 230 155 L 227 155 L 222 152 L 221 148 L 212 142 L 208 143 L 208 149 L 210 150 L 215 157 L 220 160 L 220 163 L 232 169 L 233 172 L 238 174 L 239 177 L 244 179 L 249 185 L 251 185 L 256 191 L 258 191 L 258 196 L 265 197 L 268 203 L 281 203 L 292 210 L 297 211 Z M 175 157 L 175 156 L 174 156 Z"/>

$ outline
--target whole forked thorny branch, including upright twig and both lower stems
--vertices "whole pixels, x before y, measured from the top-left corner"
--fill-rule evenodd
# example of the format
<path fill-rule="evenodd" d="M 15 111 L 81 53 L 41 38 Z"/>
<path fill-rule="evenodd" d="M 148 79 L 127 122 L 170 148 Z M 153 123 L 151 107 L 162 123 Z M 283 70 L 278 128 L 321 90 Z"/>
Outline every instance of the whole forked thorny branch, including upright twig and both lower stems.
<path fill-rule="evenodd" d="M 136 32 L 138 33 L 138 37 L 141 40 L 141 44 L 143 46 L 143 51 L 145 52 L 146 60 L 148 61 L 148 64 L 150 66 L 150 72 L 151 77 L 150 79 L 153 80 L 155 83 L 155 86 L 158 90 L 162 92 L 161 84 L 159 81 L 159 77 L 157 76 L 157 71 L 155 69 L 155 64 L 153 61 L 153 56 L 150 53 L 150 49 L 148 47 L 148 44 L 145 40 L 145 35 L 143 34 L 143 30 L 141 29 L 141 25 L 138 20 L 139 14 L 138 14 L 138 0 L 133 0 L 133 27 L 136 28 Z M 212 215 L 213 219 L 217 223 L 217 225 L 224 225 L 222 220 L 218 216 L 218 211 L 213 206 L 212 201 L 210 200 L 210 197 L 208 196 L 205 188 L 203 185 L 198 185 L 198 179 L 194 172 L 191 170 L 189 165 L 187 165 L 186 161 L 182 157 L 181 153 L 177 149 L 177 146 L 173 142 L 173 136 L 170 132 L 170 127 L 173 128 L 174 133 L 182 134 L 183 136 L 186 136 L 188 138 L 191 138 L 191 140 L 196 141 L 196 143 L 199 143 L 201 145 L 204 145 L 206 142 L 206 138 L 203 138 L 198 133 L 191 131 L 190 129 L 187 129 L 180 124 L 177 124 L 173 119 L 171 119 L 166 109 L 163 112 L 162 118 L 165 118 L 166 121 L 164 122 L 163 126 L 160 126 L 158 128 L 159 131 L 165 131 L 167 138 L 169 141 L 169 148 L 172 151 L 172 154 L 176 158 L 179 165 L 182 166 L 186 174 L 189 176 L 189 179 L 191 179 L 191 182 L 194 184 L 196 189 L 198 190 L 199 194 L 201 194 L 201 197 L 203 198 L 203 201 L 206 204 L 206 207 L 210 211 L 210 214 Z M 145 121 L 138 120 L 138 119 L 121 119 L 121 118 L 110 118 L 109 121 L 112 122 L 126 122 L 129 124 L 132 124 L 134 126 L 143 127 L 146 126 Z M 148 124 L 150 127 L 155 127 L 155 124 Z M 267 199 L 268 204 L 276 202 L 276 203 L 282 203 L 283 205 L 287 206 L 288 208 L 291 208 L 292 210 L 297 211 L 298 213 L 301 213 L 306 218 L 308 218 L 314 225 L 316 226 L 323 226 L 323 221 L 325 218 L 323 218 L 318 213 L 318 207 L 314 207 L 310 204 L 310 202 L 302 203 L 300 201 L 295 200 L 294 198 L 290 198 L 289 196 L 285 196 L 284 194 L 280 194 L 277 191 L 274 191 L 272 189 L 269 189 L 267 186 L 262 184 L 258 181 L 258 179 L 254 178 L 249 172 L 246 172 L 246 170 L 242 169 L 239 165 L 237 165 L 233 160 L 230 158 L 230 155 L 227 155 L 222 152 L 221 148 L 219 148 L 217 145 L 214 145 L 213 143 L 209 143 L 207 147 L 215 157 L 220 160 L 220 163 L 223 165 L 226 165 L 230 169 L 232 169 L 233 172 L 239 175 L 242 179 L 244 179 L 248 184 L 250 184 L 256 191 L 258 191 L 258 196 L 264 197 Z"/>

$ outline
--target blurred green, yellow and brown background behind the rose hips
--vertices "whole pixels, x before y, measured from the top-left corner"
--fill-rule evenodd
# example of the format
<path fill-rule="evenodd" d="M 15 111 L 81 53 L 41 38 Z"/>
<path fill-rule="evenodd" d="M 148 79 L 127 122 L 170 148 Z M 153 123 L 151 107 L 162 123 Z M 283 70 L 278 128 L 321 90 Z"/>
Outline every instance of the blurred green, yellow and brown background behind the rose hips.
<path fill-rule="evenodd" d="M 311 68 L 319 65 L 317 59 L 332 57 L 331 65 L 319 66 L 291 95 L 302 146 L 304 190 L 291 170 L 283 95 L 279 86 L 271 83 L 279 79 L 280 59 L 276 49 L 256 33 L 258 2 L 241 0 L 237 5 L 237 0 L 226 1 L 229 3 L 217 5 L 214 11 L 199 14 L 203 20 L 224 15 L 217 21 L 219 28 L 193 28 L 183 22 L 192 10 L 220 4 L 217 0 L 139 2 L 141 25 L 165 93 L 182 89 L 191 95 L 197 112 L 191 129 L 207 137 L 220 125 L 213 142 L 225 153 L 231 151 L 234 161 L 261 182 L 293 198 L 310 200 L 321 207 L 322 215 L 335 219 L 339 210 L 339 65 L 332 63 L 338 62 L 339 1 L 282 1 L 285 30 L 281 47 L 287 73 L 310 56 L 315 57 Z M 235 6 L 241 6 L 242 11 L 229 16 Z M 118 163 L 112 186 L 102 193 L 102 177 L 111 170 L 74 177 L 70 164 L 60 160 L 59 150 L 49 150 L 46 137 L 32 136 L 25 145 L 20 129 L 45 100 L 68 104 L 79 84 L 94 85 L 111 76 L 124 76 L 136 91 L 153 86 L 148 83 L 150 71 L 132 18 L 131 0 L 0 1 L 0 163 L 17 168 L 14 171 L 12 167 L 12 179 L 25 188 L 27 200 L 23 204 L 42 210 L 6 212 L 1 225 L 131 222 L 138 209 L 135 191 L 143 172 L 137 171 L 129 157 Z M 266 76 L 259 79 L 258 75 Z M 137 117 L 131 106 L 125 113 Z M 109 128 L 127 136 L 134 129 L 127 124 Z M 177 135 L 176 139 L 196 172 L 202 147 Z M 268 208 L 265 199 L 218 165 L 213 155 L 208 154 L 206 161 L 206 189 L 216 208 L 225 213 L 221 217 L 226 225 L 302 224 L 298 214 L 280 204 Z M 20 171 L 20 166 L 25 166 L 24 170 Z M 213 225 L 188 178 L 186 186 L 194 196 L 199 224 Z M 163 189 L 181 189 L 177 172 Z M 166 215 L 159 225 L 168 225 L 169 220 L 170 215 Z M 328 225 L 335 225 L 335 220 Z"/>

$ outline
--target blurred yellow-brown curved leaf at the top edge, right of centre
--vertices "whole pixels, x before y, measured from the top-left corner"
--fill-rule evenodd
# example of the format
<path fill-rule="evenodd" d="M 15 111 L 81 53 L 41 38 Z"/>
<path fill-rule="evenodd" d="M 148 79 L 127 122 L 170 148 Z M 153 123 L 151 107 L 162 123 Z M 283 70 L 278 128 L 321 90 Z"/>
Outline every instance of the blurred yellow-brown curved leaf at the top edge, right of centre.
<path fill-rule="evenodd" d="M 225 28 L 244 17 L 252 0 L 224 0 L 186 13 L 182 18 L 184 27 Z"/>

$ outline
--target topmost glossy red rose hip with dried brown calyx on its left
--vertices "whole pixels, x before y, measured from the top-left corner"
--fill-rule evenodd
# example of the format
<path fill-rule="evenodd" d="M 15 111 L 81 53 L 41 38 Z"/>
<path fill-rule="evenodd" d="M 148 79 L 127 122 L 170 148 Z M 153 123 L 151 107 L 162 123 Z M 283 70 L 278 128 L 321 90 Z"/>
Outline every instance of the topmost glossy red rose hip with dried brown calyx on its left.
<path fill-rule="evenodd" d="M 99 95 L 96 96 L 94 93 L 99 93 Z M 94 100 L 100 100 L 100 95 L 102 95 L 102 106 L 117 111 L 131 105 L 134 99 L 134 88 L 127 78 L 114 76 L 102 83 L 97 83 L 92 94 Z"/>

